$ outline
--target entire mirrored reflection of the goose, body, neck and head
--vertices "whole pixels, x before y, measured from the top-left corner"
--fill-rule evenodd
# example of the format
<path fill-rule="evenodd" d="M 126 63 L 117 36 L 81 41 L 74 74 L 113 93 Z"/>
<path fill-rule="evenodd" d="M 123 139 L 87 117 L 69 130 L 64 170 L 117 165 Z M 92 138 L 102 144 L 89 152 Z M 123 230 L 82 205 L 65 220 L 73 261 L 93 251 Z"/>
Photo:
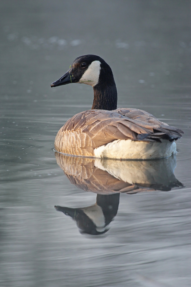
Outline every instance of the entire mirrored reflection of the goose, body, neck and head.
<path fill-rule="evenodd" d="M 119 161 L 80 158 L 55 152 L 57 164 L 70 182 L 85 191 L 97 193 L 94 205 L 82 208 L 55 206 L 75 220 L 80 232 L 103 234 L 117 214 L 120 193 L 169 191 L 183 187 L 176 179 L 176 156 L 152 161 Z"/>

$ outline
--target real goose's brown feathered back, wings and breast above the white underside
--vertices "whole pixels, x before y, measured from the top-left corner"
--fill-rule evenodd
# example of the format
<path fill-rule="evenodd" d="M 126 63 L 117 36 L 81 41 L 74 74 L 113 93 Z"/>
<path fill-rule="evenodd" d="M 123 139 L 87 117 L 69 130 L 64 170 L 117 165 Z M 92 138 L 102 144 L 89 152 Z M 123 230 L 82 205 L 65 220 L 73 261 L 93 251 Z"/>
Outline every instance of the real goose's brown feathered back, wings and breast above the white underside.
<path fill-rule="evenodd" d="M 94 156 L 94 149 L 117 139 L 174 141 L 183 133 L 150 113 L 134 108 L 87 110 L 69 119 L 58 131 L 55 149 L 65 154 Z"/>

